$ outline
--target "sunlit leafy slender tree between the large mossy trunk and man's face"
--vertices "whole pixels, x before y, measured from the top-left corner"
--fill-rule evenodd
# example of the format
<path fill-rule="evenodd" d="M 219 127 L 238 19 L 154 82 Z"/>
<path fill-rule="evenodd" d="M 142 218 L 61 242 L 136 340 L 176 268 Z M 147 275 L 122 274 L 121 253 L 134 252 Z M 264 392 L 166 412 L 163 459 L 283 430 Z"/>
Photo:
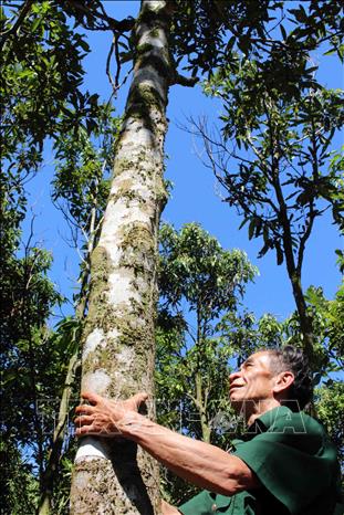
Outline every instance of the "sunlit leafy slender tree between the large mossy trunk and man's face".
<path fill-rule="evenodd" d="M 232 353 L 230 345 L 222 346 L 218 326 L 225 315 L 237 311 L 246 284 L 253 280 L 257 269 L 244 252 L 223 250 L 196 223 L 184 225 L 179 232 L 163 225 L 160 245 L 159 335 L 164 341 L 164 323 L 167 329 L 173 329 L 171 335 L 176 335 L 178 328 L 179 333 L 176 340 L 171 338 L 175 348 L 168 350 L 167 346 L 166 351 L 159 346 L 158 367 L 164 361 L 166 367 L 159 370 L 159 382 L 170 381 L 176 391 L 178 387 L 184 390 L 189 398 L 185 409 L 196 411 L 199 421 L 194 435 L 215 443 L 211 418 L 219 408 L 215 399 L 226 389 L 227 365 Z M 185 304 L 188 309 L 181 307 Z M 175 354 L 177 360 L 175 368 L 171 362 L 173 369 L 168 371 L 169 353 L 170 358 Z"/>

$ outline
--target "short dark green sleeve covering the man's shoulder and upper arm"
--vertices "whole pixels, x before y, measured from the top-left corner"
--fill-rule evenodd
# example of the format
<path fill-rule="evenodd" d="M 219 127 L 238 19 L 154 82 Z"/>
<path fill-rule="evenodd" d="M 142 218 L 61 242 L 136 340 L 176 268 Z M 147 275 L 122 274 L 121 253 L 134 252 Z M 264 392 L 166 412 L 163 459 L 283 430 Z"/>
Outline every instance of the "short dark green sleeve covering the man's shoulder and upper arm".
<path fill-rule="evenodd" d="M 295 431 L 279 424 L 238 444 L 233 453 L 291 514 L 329 492 L 336 470 L 336 450 L 325 433 Z"/>

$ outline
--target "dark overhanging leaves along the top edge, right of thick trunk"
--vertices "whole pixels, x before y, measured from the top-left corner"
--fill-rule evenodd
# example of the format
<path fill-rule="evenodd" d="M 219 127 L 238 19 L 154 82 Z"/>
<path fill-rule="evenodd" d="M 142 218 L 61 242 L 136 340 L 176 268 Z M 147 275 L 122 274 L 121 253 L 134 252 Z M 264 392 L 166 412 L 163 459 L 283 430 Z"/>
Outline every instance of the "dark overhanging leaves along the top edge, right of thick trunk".
<path fill-rule="evenodd" d="M 317 0 L 178 0 L 171 49 L 176 63 L 192 76 L 211 76 L 239 52 L 263 63 L 261 82 L 279 82 L 283 91 L 295 91 L 307 75 L 304 65 L 298 67 L 304 52 L 322 45 L 343 60 L 341 14 L 343 4 L 336 0 L 331 4 Z"/>

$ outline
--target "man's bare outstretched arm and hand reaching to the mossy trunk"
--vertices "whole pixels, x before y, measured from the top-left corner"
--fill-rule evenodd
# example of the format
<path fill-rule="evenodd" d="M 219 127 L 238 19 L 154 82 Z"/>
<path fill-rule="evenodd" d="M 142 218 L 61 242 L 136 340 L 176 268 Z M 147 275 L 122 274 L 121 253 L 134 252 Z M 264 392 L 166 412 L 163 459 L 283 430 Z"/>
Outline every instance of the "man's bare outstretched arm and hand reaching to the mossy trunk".
<path fill-rule="evenodd" d="M 139 403 L 147 396 L 137 395 L 119 403 L 93 393 L 83 397 L 92 406 L 76 408 L 82 413 L 75 420 L 80 424 L 76 429 L 79 437 L 121 434 L 136 442 L 175 474 L 218 494 L 234 495 L 260 486 L 253 472 L 239 458 L 170 431 L 137 413 Z"/>

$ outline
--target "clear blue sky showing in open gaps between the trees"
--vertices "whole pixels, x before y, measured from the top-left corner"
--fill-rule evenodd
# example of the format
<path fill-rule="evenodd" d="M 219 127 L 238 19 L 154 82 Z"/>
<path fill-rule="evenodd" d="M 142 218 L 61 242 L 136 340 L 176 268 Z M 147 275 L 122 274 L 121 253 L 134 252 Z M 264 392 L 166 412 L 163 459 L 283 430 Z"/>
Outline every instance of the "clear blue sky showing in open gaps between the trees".
<path fill-rule="evenodd" d="M 139 1 L 105 1 L 107 11 L 116 18 L 127 14 L 135 15 Z M 105 75 L 105 62 L 111 34 L 94 32 L 90 34 L 91 54 L 85 59 L 85 87 L 92 93 L 98 93 L 107 99 L 111 87 Z M 333 56 L 314 55 L 320 62 L 320 80 L 329 87 L 344 87 L 343 69 Z M 122 114 L 126 99 L 127 85 L 119 92 L 115 103 L 116 112 Z M 215 120 L 220 113 L 219 102 L 205 97 L 201 87 L 186 88 L 174 86 L 170 90 L 167 116 L 170 120 L 166 138 L 167 178 L 174 182 L 171 199 L 167 204 L 163 220 L 180 228 L 187 222 L 199 222 L 204 229 L 218 238 L 226 249 L 244 250 L 250 261 L 260 270 L 256 283 L 248 286 L 243 304 L 256 313 L 272 313 L 279 319 L 286 317 L 294 303 L 284 265 L 277 266 L 274 253 L 268 253 L 258 260 L 260 241 L 249 241 L 247 229 L 238 230 L 240 219 L 233 209 L 221 202 L 218 187 L 210 170 L 207 170 L 198 156 L 201 153 L 200 141 L 178 128 L 186 124 L 186 118 L 200 115 Z M 343 135 L 336 138 L 335 146 L 343 145 Z M 59 288 L 71 296 L 77 287 L 79 255 L 69 248 L 69 238 L 61 213 L 51 204 L 48 177 L 52 177 L 53 161 L 51 150 L 45 151 L 44 169 L 30 183 L 32 210 L 37 213 L 37 240 L 52 251 L 54 264 L 52 280 Z M 331 298 L 340 284 L 341 276 L 335 265 L 335 249 L 343 248 L 337 230 L 331 224 L 329 217 L 317 220 L 313 235 L 307 244 L 304 263 L 303 286 L 313 284 L 322 286 L 325 295 Z M 64 313 L 70 309 L 64 309 Z"/>

